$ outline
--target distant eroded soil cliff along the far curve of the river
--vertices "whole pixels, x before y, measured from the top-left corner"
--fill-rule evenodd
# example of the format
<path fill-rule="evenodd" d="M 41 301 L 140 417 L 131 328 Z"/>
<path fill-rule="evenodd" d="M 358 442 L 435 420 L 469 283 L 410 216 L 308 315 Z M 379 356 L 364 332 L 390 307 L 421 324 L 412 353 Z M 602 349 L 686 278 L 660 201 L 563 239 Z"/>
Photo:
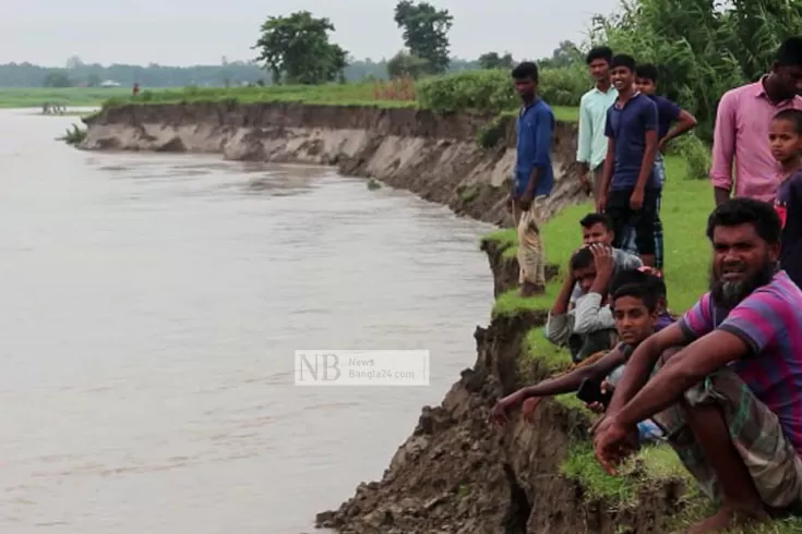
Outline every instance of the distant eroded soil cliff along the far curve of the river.
<path fill-rule="evenodd" d="M 128 105 L 84 120 L 79 148 L 219 153 L 227 159 L 336 166 L 460 215 L 508 224 L 504 201 L 515 159 L 511 120 L 475 113 L 301 104 Z M 484 142 L 478 137 L 494 129 Z M 576 125 L 558 123 L 548 214 L 587 197 L 572 174 Z"/>

